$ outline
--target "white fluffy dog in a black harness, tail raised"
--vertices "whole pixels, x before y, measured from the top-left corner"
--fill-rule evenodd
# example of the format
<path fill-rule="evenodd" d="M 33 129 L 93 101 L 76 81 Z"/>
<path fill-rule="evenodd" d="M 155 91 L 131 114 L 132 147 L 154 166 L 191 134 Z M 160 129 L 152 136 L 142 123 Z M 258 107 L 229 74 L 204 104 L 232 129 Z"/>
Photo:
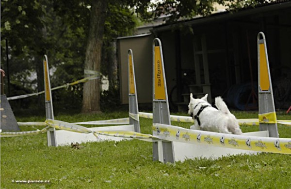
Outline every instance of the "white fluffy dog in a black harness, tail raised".
<path fill-rule="evenodd" d="M 193 94 L 190 94 L 188 114 L 192 115 L 194 119 L 194 125 L 190 129 L 227 134 L 242 134 L 236 117 L 229 112 L 222 98 L 215 98 L 217 110 L 207 102 L 207 96 L 208 94 L 201 99 L 194 99 Z"/>

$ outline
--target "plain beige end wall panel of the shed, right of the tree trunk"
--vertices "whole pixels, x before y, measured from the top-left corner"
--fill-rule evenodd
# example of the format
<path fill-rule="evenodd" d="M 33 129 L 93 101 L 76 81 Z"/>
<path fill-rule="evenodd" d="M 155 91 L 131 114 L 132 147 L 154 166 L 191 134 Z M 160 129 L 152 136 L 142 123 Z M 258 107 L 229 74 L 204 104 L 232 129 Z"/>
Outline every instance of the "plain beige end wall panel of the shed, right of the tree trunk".
<path fill-rule="evenodd" d="M 120 101 L 122 104 L 129 102 L 129 49 L 133 53 L 138 102 L 152 102 L 152 41 L 151 34 L 117 39 Z"/>

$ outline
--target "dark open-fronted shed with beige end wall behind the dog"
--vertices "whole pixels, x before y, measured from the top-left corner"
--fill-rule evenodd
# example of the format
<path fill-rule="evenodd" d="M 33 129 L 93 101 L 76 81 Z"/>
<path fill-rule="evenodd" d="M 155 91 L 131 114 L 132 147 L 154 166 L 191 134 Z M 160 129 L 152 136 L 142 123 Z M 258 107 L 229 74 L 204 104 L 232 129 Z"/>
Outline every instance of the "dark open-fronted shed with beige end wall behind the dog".
<path fill-rule="evenodd" d="M 259 9 L 262 11 L 257 11 Z M 233 86 L 250 84 L 251 82 L 257 85 L 257 35 L 259 31 L 263 31 L 266 35 L 273 87 L 277 86 L 277 81 L 282 80 L 282 77 L 291 81 L 290 18 L 291 8 L 269 9 L 267 7 L 265 9 L 262 7 L 239 13 L 225 13 L 210 18 L 194 19 L 189 22 L 189 25 L 184 23 L 186 28 L 181 30 L 170 25 L 165 25 L 164 28 L 163 26 L 154 27 L 152 30 L 154 35 L 118 40 L 122 103 L 128 103 L 127 51 L 129 48 L 133 50 L 136 64 L 139 102 L 151 103 L 151 45 L 154 36 L 162 41 L 170 103 L 181 102 L 179 95 L 189 92 L 187 88 L 189 84 L 196 84 L 194 46 L 197 46 L 198 51 L 202 51 L 201 39 L 203 35 L 206 38 L 209 80 L 213 98 L 219 95 L 227 98 L 227 91 Z M 192 31 L 188 30 L 190 27 Z M 203 84 L 202 52 L 197 57 L 196 60 L 201 68 L 201 83 Z M 238 91 L 233 90 L 232 92 Z M 240 103 L 246 103 L 248 96 L 249 94 L 242 95 L 242 98 L 239 99 Z M 275 96 L 275 102 L 278 102 L 276 98 Z M 288 102 L 290 101 L 291 96 Z"/>

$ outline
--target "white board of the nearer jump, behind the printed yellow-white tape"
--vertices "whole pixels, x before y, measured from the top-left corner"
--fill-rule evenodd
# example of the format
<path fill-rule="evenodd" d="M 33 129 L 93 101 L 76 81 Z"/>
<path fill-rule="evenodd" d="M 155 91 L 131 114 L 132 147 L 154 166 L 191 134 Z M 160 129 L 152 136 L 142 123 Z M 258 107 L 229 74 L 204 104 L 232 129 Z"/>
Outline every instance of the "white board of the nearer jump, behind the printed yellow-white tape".
<path fill-rule="evenodd" d="M 269 132 L 268 131 L 245 132 L 245 133 L 242 133 L 242 135 L 269 137 Z M 174 153 L 175 153 L 175 161 L 184 161 L 187 159 L 195 159 L 195 158 L 218 159 L 223 156 L 238 155 L 238 154 L 257 155 L 259 152 L 251 151 L 251 150 L 217 147 L 217 146 L 210 146 L 210 145 L 203 145 L 203 144 L 195 145 L 195 144 L 174 142 Z"/>

